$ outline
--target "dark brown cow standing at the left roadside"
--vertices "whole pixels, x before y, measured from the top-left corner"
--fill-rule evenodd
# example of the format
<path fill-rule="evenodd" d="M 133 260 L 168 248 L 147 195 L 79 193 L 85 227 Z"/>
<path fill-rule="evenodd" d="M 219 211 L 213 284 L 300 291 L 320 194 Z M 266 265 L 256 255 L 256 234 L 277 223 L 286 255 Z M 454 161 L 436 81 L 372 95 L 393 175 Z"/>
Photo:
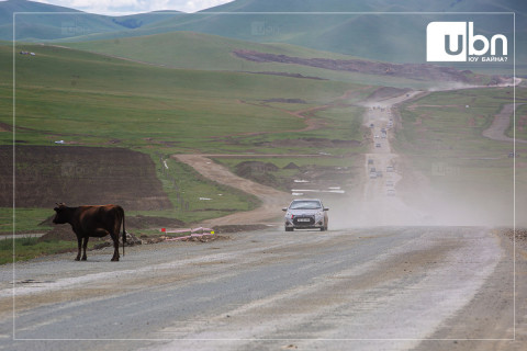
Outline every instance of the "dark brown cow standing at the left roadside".
<path fill-rule="evenodd" d="M 77 235 L 79 244 L 79 253 L 76 261 L 80 258 L 80 247 L 83 248 L 82 261 L 86 261 L 86 247 L 90 237 L 102 238 L 106 235 L 113 240 L 113 257 L 112 261 L 119 261 L 119 231 L 121 223 L 123 224 L 123 256 L 124 244 L 126 242 L 126 230 L 124 229 L 124 210 L 119 205 L 104 206 L 80 206 L 68 207 L 65 204 L 57 204 L 54 208 L 56 214 L 53 218 L 55 224 L 69 223 L 71 229 Z M 82 242 L 83 239 L 83 242 Z"/>

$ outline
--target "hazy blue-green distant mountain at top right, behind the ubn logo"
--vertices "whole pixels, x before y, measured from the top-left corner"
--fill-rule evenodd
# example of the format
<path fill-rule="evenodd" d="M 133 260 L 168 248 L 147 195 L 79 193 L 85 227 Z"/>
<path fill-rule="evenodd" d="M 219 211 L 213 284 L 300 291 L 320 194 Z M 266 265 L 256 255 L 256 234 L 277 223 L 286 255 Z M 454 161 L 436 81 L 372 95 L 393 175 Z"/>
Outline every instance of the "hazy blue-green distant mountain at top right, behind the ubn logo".
<path fill-rule="evenodd" d="M 200 29 L 198 23 L 190 24 L 192 31 L 240 37 L 253 41 L 287 42 L 309 47 L 345 53 L 370 59 L 397 63 L 425 61 L 425 29 L 430 21 L 474 21 L 482 26 L 484 34 L 503 33 L 513 41 L 513 15 L 515 12 L 517 57 L 527 55 L 527 3 L 515 0 L 236 0 L 202 12 L 352 12 L 350 15 L 278 15 L 262 14 L 253 21 L 264 23 L 261 33 L 247 36 L 243 31 L 247 21 L 234 16 L 206 18 Z M 368 14 L 365 12 L 369 12 Z M 419 12 L 436 12 L 419 14 Z M 441 14 L 462 12 L 463 14 Z M 483 15 L 476 13 L 501 12 L 502 15 Z M 407 13 L 407 14 L 404 14 Z M 505 14 L 508 13 L 508 14 Z M 236 19 L 233 21 L 233 19 Z M 250 19 L 250 16 L 249 16 Z M 176 20 L 176 19 L 175 19 Z M 177 19 L 177 21 L 181 21 Z M 223 22 L 238 24 L 238 31 L 232 35 L 224 32 Z M 239 22 L 237 22 L 239 21 Z M 169 23 L 173 21 L 166 21 Z M 197 21 L 199 22 L 199 21 Z M 245 23 L 244 23 L 245 22 Z M 211 24 L 212 23 L 212 24 Z M 294 23 L 289 25 L 288 23 Z M 299 25 L 300 23 L 300 25 Z M 302 25 L 302 23 L 304 25 Z M 159 23 L 162 25 L 162 22 Z M 359 35 L 357 35 L 357 33 Z M 519 59 L 518 61 L 522 61 Z"/>

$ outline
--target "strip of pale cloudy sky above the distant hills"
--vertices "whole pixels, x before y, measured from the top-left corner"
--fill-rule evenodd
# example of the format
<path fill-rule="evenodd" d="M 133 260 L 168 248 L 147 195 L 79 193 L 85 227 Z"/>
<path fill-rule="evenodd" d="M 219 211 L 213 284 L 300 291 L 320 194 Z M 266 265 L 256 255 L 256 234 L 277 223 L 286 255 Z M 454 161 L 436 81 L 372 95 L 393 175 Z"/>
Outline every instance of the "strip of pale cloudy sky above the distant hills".
<path fill-rule="evenodd" d="M 138 13 L 157 10 L 195 12 L 233 0 L 32 0 L 91 13 Z"/>

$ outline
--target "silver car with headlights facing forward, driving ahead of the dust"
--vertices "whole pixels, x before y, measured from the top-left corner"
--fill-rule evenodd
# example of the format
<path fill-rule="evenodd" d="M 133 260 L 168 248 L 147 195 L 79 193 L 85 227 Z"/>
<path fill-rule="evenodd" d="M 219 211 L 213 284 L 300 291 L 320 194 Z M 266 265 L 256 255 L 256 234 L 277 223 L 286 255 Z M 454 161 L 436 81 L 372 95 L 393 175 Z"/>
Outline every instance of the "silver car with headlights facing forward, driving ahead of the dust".
<path fill-rule="evenodd" d="M 327 230 L 329 208 L 324 207 L 319 199 L 293 200 L 285 212 L 285 231 L 294 229 L 321 229 Z"/>

